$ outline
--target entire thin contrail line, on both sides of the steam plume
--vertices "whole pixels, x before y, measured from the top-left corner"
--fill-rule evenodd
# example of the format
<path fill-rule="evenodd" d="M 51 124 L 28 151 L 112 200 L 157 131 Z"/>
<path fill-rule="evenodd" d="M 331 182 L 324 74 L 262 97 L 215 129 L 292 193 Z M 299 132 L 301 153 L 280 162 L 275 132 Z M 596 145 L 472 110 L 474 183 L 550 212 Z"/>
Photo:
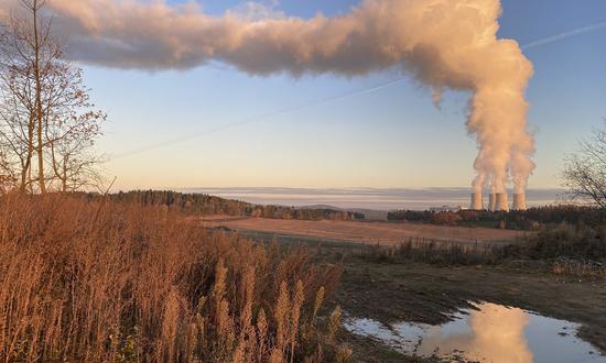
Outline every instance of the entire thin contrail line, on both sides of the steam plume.
<path fill-rule="evenodd" d="M 576 30 L 573 30 L 573 31 L 564 32 L 562 34 L 549 36 L 549 37 L 545 37 L 545 38 L 542 38 L 542 40 L 539 40 L 539 41 L 534 41 L 534 42 L 531 42 L 531 43 L 523 44 L 523 45 L 521 45 L 521 48 L 524 50 L 524 51 L 526 50 L 532 50 L 532 48 L 540 47 L 540 46 L 547 45 L 547 44 L 551 44 L 551 43 L 554 43 L 554 42 L 558 42 L 558 41 L 561 41 L 561 40 L 564 40 L 564 38 L 569 38 L 569 37 L 585 34 L 585 33 L 591 33 L 591 32 L 595 32 L 595 31 L 599 31 L 599 30 L 605 30 L 605 29 L 606 29 L 606 22 L 597 23 L 597 24 L 593 24 L 593 25 L 587 25 L 587 26 L 580 28 L 580 29 L 576 29 Z M 312 107 L 322 106 L 322 105 L 335 102 L 335 101 L 338 101 L 338 100 L 353 98 L 353 97 L 356 97 L 356 96 L 372 94 L 372 92 L 379 91 L 381 89 L 392 87 L 392 86 L 394 86 L 397 84 L 400 84 L 404 80 L 405 80 L 405 78 L 401 77 L 401 78 L 388 81 L 386 84 L 382 84 L 382 85 L 379 85 L 379 86 L 376 86 L 376 87 L 372 87 L 372 88 L 361 89 L 361 90 L 357 90 L 357 91 L 346 94 L 346 95 L 340 95 L 340 96 L 335 96 L 335 97 L 331 97 L 331 98 L 327 98 L 327 99 L 312 101 L 312 102 L 295 106 L 295 107 L 292 107 L 292 108 L 278 110 L 275 112 L 267 113 L 267 114 L 263 114 L 263 116 L 260 116 L 260 117 L 255 117 L 255 118 L 241 121 L 241 122 L 236 122 L 236 123 L 223 125 L 223 127 L 219 127 L 219 128 L 216 128 L 216 129 L 202 131 L 202 132 L 198 132 L 198 133 L 190 134 L 187 136 L 183 136 L 183 138 L 178 138 L 178 139 L 169 140 L 169 141 L 165 141 L 165 142 L 150 144 L 148 146 L 144 146 L 144 147 L 141 147 L 141 148 L 138 148 L 138 150 L 133 150 L 133 151 L 129 151 L 129 152 L 126 152 L 126 153 L 118 154 L 115 157 L 111 157 L 111 160 L 119 160 L 119 158 L 129 157 L 129 156 L 132 156 L 132 155 L 145 153 L 148 151 L 152 151 L 152 150 L 155 150 L 155 148 L 165 147 L 165 146 L 170 146 L 170 145 L 173 145 L 173 144 L 176 144 L 176 143 L 182 143 L 182 142 L 195 140 L 195 139 L 206 136 L 206 135 L 209 135 L 209 134 L 213 134 L 213 133 L 221 132 L 221 131 L 225 131 L 225 130 L 242 127 L 242 125 L 250 124 L 250 123 L 262 122 L 267 119 L 271 119 L 271 118 L 274 118 L 274 117 L 278 117 L 278 116 L 301 111 L 301 110 L 309 109 L 309 108 L 312 108 Z"/>

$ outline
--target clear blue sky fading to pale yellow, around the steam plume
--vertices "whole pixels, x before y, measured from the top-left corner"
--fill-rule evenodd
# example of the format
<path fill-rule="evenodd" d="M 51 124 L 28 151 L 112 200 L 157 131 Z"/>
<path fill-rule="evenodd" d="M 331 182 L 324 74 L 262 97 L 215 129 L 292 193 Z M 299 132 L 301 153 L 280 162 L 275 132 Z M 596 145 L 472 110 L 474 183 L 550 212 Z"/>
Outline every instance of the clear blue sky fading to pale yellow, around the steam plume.
<path fill-rule="evenodd" d="M 169 3 L 182 1 L 171 0 Z M 221 14 L 238 0 L 198 1 Z M 354 0 L 281 0 L 275 11 L 346 13 Z M 520 44 L 606 22 L 603 0 L 504 0 L 500 37 Z M 560 186 L 566 153 L 606 117 L 606 26 L 524 50 L 537 140 L 530 188 Z M 250 76 L 213 63 L 191 70 L 84 65 L 109 119 L 97 147 L 115 189 L 195 187 L 467 187 L 475 140 L 468 95 L 431 91 L 396 72 Z M 394 81 L 398 80 L 398 81 Z"/>

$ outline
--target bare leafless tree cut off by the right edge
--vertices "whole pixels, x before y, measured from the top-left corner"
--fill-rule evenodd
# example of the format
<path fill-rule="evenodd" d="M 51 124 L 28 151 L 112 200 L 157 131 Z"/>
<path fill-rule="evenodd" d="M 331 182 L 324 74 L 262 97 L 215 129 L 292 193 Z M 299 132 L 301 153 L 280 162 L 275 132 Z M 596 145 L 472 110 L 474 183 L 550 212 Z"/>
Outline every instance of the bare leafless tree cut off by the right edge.
<path fill-rule="evenodd" d="M 563 184 L 572 198 L 606 209 L 606 129 L 595 129 L 580 146 L 566 156 Z"/>

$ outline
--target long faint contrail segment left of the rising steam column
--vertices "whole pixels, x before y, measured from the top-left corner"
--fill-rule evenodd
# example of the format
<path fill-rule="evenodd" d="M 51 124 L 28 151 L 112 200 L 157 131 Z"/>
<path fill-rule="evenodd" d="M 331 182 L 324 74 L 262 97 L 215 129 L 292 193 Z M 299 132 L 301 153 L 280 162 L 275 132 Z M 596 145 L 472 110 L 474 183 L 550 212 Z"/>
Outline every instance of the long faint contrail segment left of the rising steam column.
<path fill-rule="evenodd" d="M 325 105 L 325 103 L 340 101 L 340 100 L 354 98 L 354 97 L 366 95 L 366 94 L 372 94 L 372 92 L 376 92 L 378 90 L 381 90 L 381 89 L 389 88 L 389 87 L 396 86 L 398 84 L 401 84 L 404 80 L 405 80 L 405 77 L 401 77 L 401 78 L 398 78 L 396 80 L 391 80 L 391 81 L 385 82 L 382 85 L 379 85 L 379 86 L 376 86 L 376 87 L 372 87 L 372 88 L 365 88 L 365 89 L 360 89 L 360 90 L 357 90 L 357 91 L 354 91 L 354 92 L 350 92 L 350 94 L 346 94 L 346 95 L 339 95 L 339 96 L 335 96 L 335 97 L 331 97 L 331 98 L 325 98 L 325 99 L 321 99 L 321 100 L 311 101 L 311 102 L 307 102 L 307 103 L 304 103 L 304 105 L 290 107 L 290 108 L 285 108 L 285 109 L 282 109 L 282 110 L 279 110 L 279 111 L 275 111 L 275 112 L 271 112 L 271 113 L 262 114 L 262 116 L 259 116 L 259 117 L 255 117 L 255 118 L 241 121 L 241 122 L 235 122 L 235 123 L 226 124 L 226 125 L 223 125 L 223 127 L 219 127 L 219 128 L 216 128 L 216 129 L 206 130 L 206 131 L 197 132 L 197 133 L 194 133 L 194 134 L 190 134 L 187 136 L 173 139 L 173 140 L 169 140 L 169 141 L 164 141 L 164 142 L 160 142 L 160 143 L 155 143 L 155 144 L 150 144 L 148 146 L 144 146 L 144 147 L 141 147 L 141 148 L 138 148 L 138 150 L 133 150 L 133 151 L 126 152 L 126 153 L 122 153 L 122 154 L 117 154 L 116 156 L 111 157 L 111 160 L 119 160 L 119 158 L 123 158 L 123 157 L 129 157 L 129 156 L 132 156 L 132 155 L 137 155 L 137 154 L 141 154 L 141 153 L 144 153 L 144 152 L 148 152 L 148 151 L 152 151 L 152 150 L 155 150 L 155 148 L 170 146 L 172 144 L 182 143 L 182 142 L 186 142 L 186 141 L 190 141 L 190 140 L 195 140 L 195 139 L 206 136 L 206 135 L 209 135 L 209 134 L 213 134 L 213 133 L 217 133 L 217 132 L 220 132 L 220 131 L 225 131 L 225 130 L 229 130 L 229 129 L 234 129 L 234 128 L 238 128 L 238 127 L 244 127 L 244 125 L 249 124 L 249 123 L 261 122 L 261 121 L 264 121 L 267 119 L 271 119 L 271 118 L 274 118 L 274 117 L 278 117 L 278 116 L 288 114 L 288 113 L 305 110 L 305 109 L 309 109 L 309 108 L 312 108 L 312 107 L 317 107 L 317 106 L 322 106 L 322 105 Z"/>

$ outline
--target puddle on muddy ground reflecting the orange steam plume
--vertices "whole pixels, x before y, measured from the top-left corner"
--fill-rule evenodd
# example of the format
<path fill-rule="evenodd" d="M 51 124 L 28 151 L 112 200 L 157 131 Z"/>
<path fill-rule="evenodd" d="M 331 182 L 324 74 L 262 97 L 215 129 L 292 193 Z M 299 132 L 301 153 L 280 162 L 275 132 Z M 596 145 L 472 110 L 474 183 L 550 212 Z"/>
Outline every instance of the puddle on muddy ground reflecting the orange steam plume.
<path fill-rule="evenodd" d="M 350 332 L 372 337 L 402 353 L 458 355 L 480 362 L 605 362 L 606 356 L 576 338 L 578 324 L 518 308 L 483 302 L 443 326 L 346 319 Z"/>

